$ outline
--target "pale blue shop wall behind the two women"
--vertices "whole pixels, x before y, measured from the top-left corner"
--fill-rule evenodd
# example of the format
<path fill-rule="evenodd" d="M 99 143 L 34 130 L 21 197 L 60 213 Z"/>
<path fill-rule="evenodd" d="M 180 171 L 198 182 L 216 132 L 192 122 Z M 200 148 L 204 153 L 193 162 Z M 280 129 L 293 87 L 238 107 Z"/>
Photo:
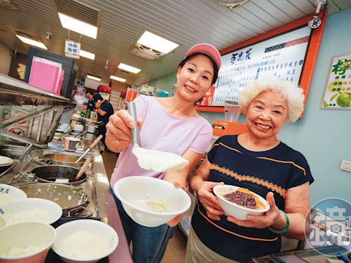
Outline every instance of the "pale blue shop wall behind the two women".
<path fill-rule="evenodd" d="M 330 15 L 326 21 L 319 55 L 313 73 L 303 118 L 287 123 L 278 138 L 300 151 L 310 165 L 315 182 L 311 185 L 311 204 L 328 197 L 351 202 L 351 173 L 340 170 L 341 160 L 351 161 L 351 110 L 319 110 L 330 71 L 332 57 L 351 53 L 351 9 Z M 171 88 L 176 74 L 149 82 L 155 88 Z M 210 123 L 224 114 L 199 112 Z M 245 123 L 245 116 L 239 122 Z"/>

